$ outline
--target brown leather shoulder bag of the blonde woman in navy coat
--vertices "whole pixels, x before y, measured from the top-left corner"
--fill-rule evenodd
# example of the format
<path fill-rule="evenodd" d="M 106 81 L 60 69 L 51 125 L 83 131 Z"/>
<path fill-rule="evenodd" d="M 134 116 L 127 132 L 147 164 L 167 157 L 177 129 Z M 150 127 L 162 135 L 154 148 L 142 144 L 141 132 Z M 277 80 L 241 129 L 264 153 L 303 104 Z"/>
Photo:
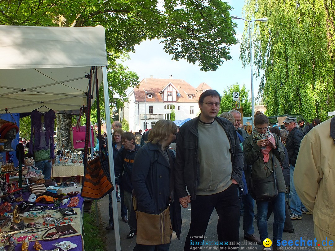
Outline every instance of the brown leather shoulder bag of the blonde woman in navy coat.
<path fill-rule="evenodd" d="M 136 243 L 141 245 L 170 243 L 173 232 L 170 218 L 170 205 L 159 215 L 138 211 L 136 196 L 133 196 L 133 205 L 137 219 Z"/>

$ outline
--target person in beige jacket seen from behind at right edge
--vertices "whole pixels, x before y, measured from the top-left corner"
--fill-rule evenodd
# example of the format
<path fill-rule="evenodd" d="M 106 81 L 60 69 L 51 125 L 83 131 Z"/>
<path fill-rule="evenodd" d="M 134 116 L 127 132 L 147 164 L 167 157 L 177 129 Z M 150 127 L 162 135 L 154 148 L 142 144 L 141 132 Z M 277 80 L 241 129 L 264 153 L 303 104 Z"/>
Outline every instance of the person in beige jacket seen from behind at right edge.
<path fill-rule="evenodd" d="M 302 140 L 293 180 L 296 192 L 313 214 L 317 246 L 335 241 L 335 117 L 313 128 Z M 329 243 L 329 241 L 331 241 Z"/>

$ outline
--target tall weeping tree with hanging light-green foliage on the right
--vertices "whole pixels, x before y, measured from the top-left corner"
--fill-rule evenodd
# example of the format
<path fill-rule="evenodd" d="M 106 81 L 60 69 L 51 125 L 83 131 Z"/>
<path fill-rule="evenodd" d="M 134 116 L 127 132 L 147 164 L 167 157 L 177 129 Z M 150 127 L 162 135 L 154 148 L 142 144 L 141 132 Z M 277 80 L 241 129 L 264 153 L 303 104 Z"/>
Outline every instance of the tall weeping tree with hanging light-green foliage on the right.
<path fill-rule="evenodd" d="M 267 115 L 300 113 L 311 121 L 335 109 L 334 0 L 248 0 L 244 16 L 252 23 L 255 75 Z M 249 63 L 247 24 L 241 59 Z"/>

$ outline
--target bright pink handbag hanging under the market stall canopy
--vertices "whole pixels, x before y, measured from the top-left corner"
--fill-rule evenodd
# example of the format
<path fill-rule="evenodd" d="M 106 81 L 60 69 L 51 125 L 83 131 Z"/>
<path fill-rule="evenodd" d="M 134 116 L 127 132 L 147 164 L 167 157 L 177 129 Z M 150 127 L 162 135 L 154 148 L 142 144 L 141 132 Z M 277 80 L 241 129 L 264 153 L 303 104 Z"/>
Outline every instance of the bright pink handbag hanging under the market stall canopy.
<path fill-rule="evenodd" d="M 86 135 L 86 126 L 79 126 L 80 123 L 80 117 L 77 121 L 77 125 L 75 127 L 70 128 L 70 135 L 71 135 L 71 143 L 72 148 L 74 150 L 84 150 L 85 148 L 85 135 Z M 93 129 L 93 126 L 91 126 L 90 129 L 91 132 L 91 138 L 93 139 L 93 147 L 95 147 L 96 144 L 96 136 L 95 136 L 95 130 Z M 88 147 L 91 147 L 91 141 L 88 139 Z"/>

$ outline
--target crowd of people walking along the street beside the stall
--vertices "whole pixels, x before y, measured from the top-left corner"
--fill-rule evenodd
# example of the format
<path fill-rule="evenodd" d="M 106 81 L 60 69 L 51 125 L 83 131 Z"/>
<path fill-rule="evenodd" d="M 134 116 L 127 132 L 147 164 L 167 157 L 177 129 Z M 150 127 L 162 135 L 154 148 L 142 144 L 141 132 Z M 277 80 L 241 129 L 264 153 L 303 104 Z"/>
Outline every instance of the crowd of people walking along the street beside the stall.
<path fill-rule="evenodd" d="M 314 207 L 317 205 L 320 206 L 320 222 L 316 223 L 315 229 L 318 232 L 317 240 L 321 241 L 327 234 L 334 234 L 335 224 L 331 222 L 334 213 L 329 212 L 328 218 L 323 217 L 322 206 L 325 202 L 315 201 L 324 170 L 311 159 L 316 155 L 313 143 L 321 144 L 318 130 L 311 129 L 321 121 L 314 119 L 309 126 L 304 127 L 304 121 L 288 116 L 283 121 L 285 129 L 280 130 L 278 127 L 269 127 L 268 117 L 257 112 L 254 129 L 249 135 L 240 128 L 239 111 L 231 110 L 217 116 L 220 102 L 217 91 L 204 91 L 199 97 L 200 115 L 180 128 L 170 120 L 159 120 L 142 135 L 142 130 L 135 134 L 123 132 L 119 121 L 113 123 L 114 175 L 116 189 L 120 188 L 121 217 L 124 222 L 128 222 L 130 228 L 127 238 L 135 237 L 138 229 L 142 233 L 145 228 L 156 224 L 153 221 L 151 226 L 138 226 L 138 211 L 162 215 L 169 210 L 172 229 L 179 239 L 182 220 L 180 205 L 187 208 L 189 204 L 192 209 L 191 222 L 184 250 L 190 250 L 191 245 L 202 245 L 214 208 L 218 215 L 218 241 L 227 242 L 227 246 L 231 248 L 237 248 L 240 240 L 240 216 L 243 216 L 244 239 L 262 245 L 263 240 L 268 238 L 267 221 L 273 213 L 273 243 L 275 248 L 281 249 L 275 243 L 281 243 L 283 231 L 293 233 L 292 221 L 301 220 L 304 213 L 315 212 Z M 317 129 L 319 127 L 322 126 Z M 335 120 L 333 130 L 334 127 Z M 328 130 L 332 134 L 331 129 Z M 301 142 L 308 149 L 307 152 L 312 151 L 308 157 L 307 153 L 302 153 L 304 150 L 300 147 Z M 104 143 L 107 149 L 107 139 Z M 313 175 L 306 174 L 306 160 L 303 158 L 310 159 Z M 325 163 L 320 156 L 316 158 Z M 330 159 L 334 160 L 334 157 Z M 332 170 L 334 167 L 329 168 Z M 270 176 L 275 177 L 277 193 L 269 199 L 259 199 L 253 194 L 250 184 Z M 305 177 L 314 182 L 313 189 L 306 187 L 309 184 L 304 181 Z M 330 178 L 333 184 L 334 176 Z M 331 185 L 323 187 L 326 191 L 331 188 Z M 306 193 L 305 189 L 310 193 Z M 289 206 L 285 193 L 290 194 Z M 321 196 L 323 195 L 319 195 Z M 254 213 L 255 201 L 257 214 Z M 112 208 L 110 195 L 110 221 L 107 230 L 114 229 Z M 327 208 L 332 210 L 329 205 Z M 260 237 L 254 233 L 254 218 L 257 220 Z M 327 230 L 322 219 L 332 224 Z M 158 235 L 155 232 L 151 234 Z M 152 242 L 146 242 L 143 234 L 137 236 L 134 250 L 169 250 L 169 240 L 163 238 L 165 241 L 156 243 L 153 241 L 154 237 L 149 237 Z"/>

